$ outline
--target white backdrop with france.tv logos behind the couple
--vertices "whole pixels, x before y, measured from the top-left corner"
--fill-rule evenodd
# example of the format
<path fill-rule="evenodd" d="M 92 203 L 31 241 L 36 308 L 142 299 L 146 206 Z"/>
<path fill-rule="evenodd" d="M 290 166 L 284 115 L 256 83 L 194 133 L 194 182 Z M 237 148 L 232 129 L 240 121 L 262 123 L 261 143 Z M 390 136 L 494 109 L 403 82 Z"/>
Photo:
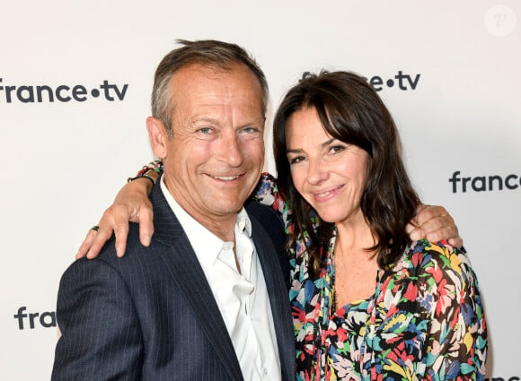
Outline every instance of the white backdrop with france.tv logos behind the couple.
<path fill-rule="evenodd" d="M 153 74 L 180 38 L 252 52 L 269 80 L 269 124 L 304 71 L 354 70 L 381 88 L 411 178 L 453 214 L 478 274 L 489 377 L 520 379 L 519 0 L 0 1 L 0 379 L 49 379 L 59 277 L 153 159 Z M 37 86 L 48 86 L 40 101 Z M 458 171 L 465 190 L 449 182 Z"/>

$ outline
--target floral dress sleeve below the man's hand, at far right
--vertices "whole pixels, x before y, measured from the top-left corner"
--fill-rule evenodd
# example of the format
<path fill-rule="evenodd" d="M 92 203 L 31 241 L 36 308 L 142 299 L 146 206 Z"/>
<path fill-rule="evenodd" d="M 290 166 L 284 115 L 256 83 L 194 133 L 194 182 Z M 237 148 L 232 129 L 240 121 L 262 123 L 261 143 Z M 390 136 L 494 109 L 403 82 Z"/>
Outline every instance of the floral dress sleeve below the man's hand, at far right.
<path fill-rule="evenodd" d="M 429 256 L 431 261 L 428 261 Z M 431 321 L 426 338 L 428 380 L 483 380 L 487 330 L 480 290 L 471 264 L 461 251 L 428 244 L 419 279 L 423 300 L 430 299 Z"/>

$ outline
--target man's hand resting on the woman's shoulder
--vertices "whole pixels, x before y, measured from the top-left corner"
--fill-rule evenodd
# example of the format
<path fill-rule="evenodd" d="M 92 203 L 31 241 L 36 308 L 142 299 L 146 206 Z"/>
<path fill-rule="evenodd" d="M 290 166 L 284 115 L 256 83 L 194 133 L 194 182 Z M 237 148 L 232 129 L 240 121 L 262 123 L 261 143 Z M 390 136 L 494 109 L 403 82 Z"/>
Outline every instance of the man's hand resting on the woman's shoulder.
<path fill-rule="evenodd" d="M 463 247 L 455 221 L 443 206 L 420 205 L 416 216 L 406 227 L 411 240 L 427 238 L 431 242 L 447 239 L 455 247 Z"/>

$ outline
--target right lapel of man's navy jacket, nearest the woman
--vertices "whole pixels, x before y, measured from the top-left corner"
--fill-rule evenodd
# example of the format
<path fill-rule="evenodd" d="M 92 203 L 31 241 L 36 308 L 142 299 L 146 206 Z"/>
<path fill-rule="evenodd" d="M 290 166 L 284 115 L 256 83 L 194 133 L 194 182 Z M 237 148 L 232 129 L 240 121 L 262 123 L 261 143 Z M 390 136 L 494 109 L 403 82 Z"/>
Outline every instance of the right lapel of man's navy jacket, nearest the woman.
<path fill-rule="evenodd" d="M 248 207 L 248 215 L 252 221 L 252 236 L 261 262 L 262 273 L 266 281 L 269 295 L 269 304 L 273 315 L 273 324 L 277 333 L 278 356 L 280 358 L 280 369 L 282 379 L 293 381 L 295 379 L 295 337 L 293 333 L 293 322 L 291 319 L 291 307 L 287 295 L 287 286 L 284 273 L 280 267 L 278 255 L 281 247 L 273 245 L 273 238 L 264 229 L 259 216 L 255 210 L 261 207 L 255 203 Z M 280 227 L 282 229 L 282 226 Z"/>

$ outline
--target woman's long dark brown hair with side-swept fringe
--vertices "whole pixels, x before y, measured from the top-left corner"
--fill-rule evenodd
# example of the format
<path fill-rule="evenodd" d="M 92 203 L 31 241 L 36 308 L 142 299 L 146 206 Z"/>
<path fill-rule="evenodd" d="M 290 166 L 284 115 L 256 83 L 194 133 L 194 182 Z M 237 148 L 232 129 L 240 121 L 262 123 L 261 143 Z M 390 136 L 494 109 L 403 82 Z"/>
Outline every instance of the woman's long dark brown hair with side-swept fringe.
<path fill-rule="evenodd" d="M 318 219 L 313 229 L 312 207 L 299 195 L 287 160 L 287 119 L 296 111 L 315 108 L 325 131 L 344 143 L 355 144 L 368 154 L 366 185 L 360 201 L 372 229 L 377 262 L 386 268 L 396 262 L 410 243 L 405 226 L 416 214 L 419 196 L 403 165 L 401 144 L 393 117 L 376 91 L 358 74 L 322 72 L 309 74 L 282 100 L 273 125 L 273 152 L 278 187 L 293 211 L 295 229 L 291 247 L 305 231 L 311 238 L 310 273 L 315 276 L 323 264 L 333 234 L 331 223 Z"/>

